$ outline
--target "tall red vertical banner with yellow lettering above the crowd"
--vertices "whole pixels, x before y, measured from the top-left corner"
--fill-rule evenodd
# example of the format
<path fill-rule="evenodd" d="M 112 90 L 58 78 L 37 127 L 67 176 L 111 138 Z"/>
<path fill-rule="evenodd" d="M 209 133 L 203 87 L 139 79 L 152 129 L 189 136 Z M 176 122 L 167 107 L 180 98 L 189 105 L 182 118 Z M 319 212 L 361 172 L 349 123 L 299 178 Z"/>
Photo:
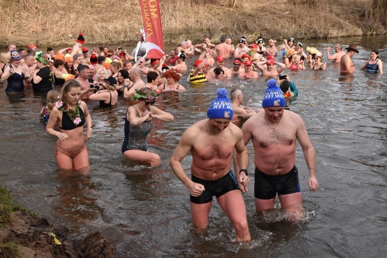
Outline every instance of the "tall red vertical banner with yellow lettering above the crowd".
<path fill-rule="evenodd" d="M 147 58 L 162 58 L 164 40 L 159 0 L 140 0 L 140 6 L 144 22 Z"/>

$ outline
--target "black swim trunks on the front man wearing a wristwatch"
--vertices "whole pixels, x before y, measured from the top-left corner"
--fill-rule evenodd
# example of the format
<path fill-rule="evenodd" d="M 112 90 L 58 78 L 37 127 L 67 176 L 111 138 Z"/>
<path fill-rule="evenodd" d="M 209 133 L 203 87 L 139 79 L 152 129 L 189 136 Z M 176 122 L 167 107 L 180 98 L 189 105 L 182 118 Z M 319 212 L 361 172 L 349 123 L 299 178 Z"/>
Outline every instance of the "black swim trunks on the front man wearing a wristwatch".
<path fill-rule="evenodd" d="M 234 176 L 234 173 L 230 170 L 222 178 L 216 180 L 205 180 L 191 175 L 193 182 L 204 185 L 204 190 L 198 197 L 190 196 L 190 200 L 194 204 L 206 204 L 212 201 L 213 196 L 217 198 L 232 190 L 238 190 L 239 186 Z"/>

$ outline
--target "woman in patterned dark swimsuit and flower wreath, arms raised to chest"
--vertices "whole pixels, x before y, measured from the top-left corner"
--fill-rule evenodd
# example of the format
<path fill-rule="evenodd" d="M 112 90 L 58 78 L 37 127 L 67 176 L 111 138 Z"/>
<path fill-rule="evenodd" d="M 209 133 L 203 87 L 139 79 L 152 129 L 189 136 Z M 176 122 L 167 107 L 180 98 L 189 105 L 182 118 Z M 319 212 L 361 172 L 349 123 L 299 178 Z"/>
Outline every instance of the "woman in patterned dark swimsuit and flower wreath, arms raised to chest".
<path fill-rule="evenodd" d="M 138 103 L 129 106 L 126 111 L 125 138 L 122 144 L 122 155 L 125 158 L 148 163 L 151 166 L 161 163 L 159 155 L 148 151 L 147 137 L 152 130 L 152 119 L 173 121 L 171 114 L 153 106 L 157 96 L 156 92 L 148 87 L 136 89 L 132 101 L 138 100 Z"/>

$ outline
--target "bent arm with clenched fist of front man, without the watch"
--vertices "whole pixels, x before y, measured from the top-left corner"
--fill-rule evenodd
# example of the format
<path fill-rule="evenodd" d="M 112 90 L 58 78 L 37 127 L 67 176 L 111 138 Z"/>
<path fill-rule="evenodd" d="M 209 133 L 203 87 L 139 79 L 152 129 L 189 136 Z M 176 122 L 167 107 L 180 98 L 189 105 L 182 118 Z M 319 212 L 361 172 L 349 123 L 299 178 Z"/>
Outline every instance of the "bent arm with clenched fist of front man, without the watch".
<path fill-rule="evenodd" d="M 194 183 L 185 173 L 181 160 L 189 153 L 192 148 L 192 139 L 195 139 L 195 135 L 191 133 L 192 128 L 188 128 L 181 136 L 180 142 L 177 145 L 175 151 L 169 159 L 169 165 L 173 170 L 173 173 L 178 179 L 188 188 L 189 193 L 192 196 L 198 197 L 205 190 L 201 184 Z"/>

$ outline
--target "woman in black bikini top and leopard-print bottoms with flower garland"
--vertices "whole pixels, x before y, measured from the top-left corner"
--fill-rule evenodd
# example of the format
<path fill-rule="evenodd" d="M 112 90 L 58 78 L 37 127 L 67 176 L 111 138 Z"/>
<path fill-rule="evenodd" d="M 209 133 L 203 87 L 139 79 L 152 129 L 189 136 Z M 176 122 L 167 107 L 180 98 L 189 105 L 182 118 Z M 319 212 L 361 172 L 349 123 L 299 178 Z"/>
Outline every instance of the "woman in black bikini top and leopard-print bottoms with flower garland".
<path fill-rule="evenodd" d="M 54 130 L 56 122 L 59 131 Z M 84 136 L 85 122 L 87 131 Z M 78 81 L 71 79 L 63 84 L 59 100 L 51 111 L 46 132 L 58 138 L 54 157 L 59 168 L 80 170 L 89 166 L 86 142 L 93 134 L 93 126 L 87 105 L 81 101 L 81 85 Z"/>

